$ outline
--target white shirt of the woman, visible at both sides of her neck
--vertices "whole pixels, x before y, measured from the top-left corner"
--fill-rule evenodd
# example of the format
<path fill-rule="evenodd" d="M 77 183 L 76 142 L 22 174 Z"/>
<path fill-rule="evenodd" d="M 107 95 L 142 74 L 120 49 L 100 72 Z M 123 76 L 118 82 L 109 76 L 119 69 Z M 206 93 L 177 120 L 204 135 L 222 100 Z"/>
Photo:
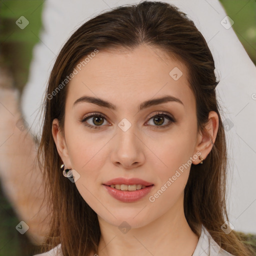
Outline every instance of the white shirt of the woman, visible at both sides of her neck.
<path fill-rule="evenodd" d="M 92 253 L 91 256 L 93 255 L 95 254 Z M 53 249 L 41 254 L 36 254 L 34 256 L 63 256 L 61 252 L 61 244 L 59 243 Z M 206 230 L 206 228 L 202 225 L 201 235 L 198 239 L 198 243 L 195 247 L 195 250 L 192 256 L 234 256 L 234 255 L 220 248 L 220 246 L 213 240 L 209 232 Z"/>

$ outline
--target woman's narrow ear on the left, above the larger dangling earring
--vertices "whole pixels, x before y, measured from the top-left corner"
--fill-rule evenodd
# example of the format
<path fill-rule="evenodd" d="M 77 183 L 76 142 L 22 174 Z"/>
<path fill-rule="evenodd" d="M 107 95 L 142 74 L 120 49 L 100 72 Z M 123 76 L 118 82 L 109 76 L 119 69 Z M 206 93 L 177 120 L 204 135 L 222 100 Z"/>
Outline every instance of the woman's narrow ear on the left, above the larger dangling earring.
<path fill-rule="evenodd" d="M 58 154 L 65 165 L 65 169 L 66 168 L 71 169 L 71 164 L 70 164 L 68 150 L 67 150 L 67 146 L 66 146 L 66 142 L 65 142 L 65 137 L 62 134 L 62 131 L 60 130 L 59 122 L 58 122 L 57 118 L 55 118 L 52 121 L 51 132 L 52 132 L 52 136 L 53 136 Z"/>

